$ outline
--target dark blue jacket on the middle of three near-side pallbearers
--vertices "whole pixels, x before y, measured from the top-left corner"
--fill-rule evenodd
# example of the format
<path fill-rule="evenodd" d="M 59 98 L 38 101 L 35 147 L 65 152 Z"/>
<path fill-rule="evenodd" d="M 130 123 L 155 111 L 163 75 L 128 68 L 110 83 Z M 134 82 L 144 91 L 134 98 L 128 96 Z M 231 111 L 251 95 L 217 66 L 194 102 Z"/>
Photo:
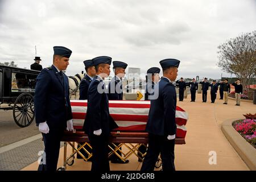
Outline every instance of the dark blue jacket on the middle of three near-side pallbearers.
<path fill-rule="evenodd" d="M 93 131 L 101 129 L 103 135 L 109 135 L 110 131 L 117 127 L 109 115 L 109 99 L 105 84 L 96 76 L 90 82 L 88 89 L 88 105 L 83 130 L 86 134 L 93 135 Z"/>

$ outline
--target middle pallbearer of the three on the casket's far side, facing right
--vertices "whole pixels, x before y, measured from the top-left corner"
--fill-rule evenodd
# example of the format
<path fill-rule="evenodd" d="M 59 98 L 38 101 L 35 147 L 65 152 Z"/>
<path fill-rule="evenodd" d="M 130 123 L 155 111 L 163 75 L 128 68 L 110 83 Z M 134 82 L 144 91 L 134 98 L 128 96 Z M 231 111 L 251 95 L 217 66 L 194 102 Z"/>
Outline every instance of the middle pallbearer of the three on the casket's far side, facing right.
<path fill-rule="evenodd" d="M 126 63 L 123 63 L 122 61 L 113 61 L 113 71 L 115 73 L 115 76 L 109 82 L 109 86 L 108 86 L 109 100 L 123 100 L 122 78 L 125 77 L 125 69 L 126 68 L 127 68 Z M 118 146 L 118 144 L 119 143 L 115 143 L 115 145 L 117 145 L 117 146 Z M 110 143 L 109 145 L 112 148 L 114 148 L 114 145 L 112 143 Z M 121 147 L 119 149 L 122 150 Z M 122 156 L 121 151 L 117 151 L 117 153 Z M 110 156 L 109 159 L 111 160 L 111 163 L 119 163 L 119 164 L 129 163 L 129 160 L 126 160 L 125 162 L 123 162 L 115 154 Z"/>

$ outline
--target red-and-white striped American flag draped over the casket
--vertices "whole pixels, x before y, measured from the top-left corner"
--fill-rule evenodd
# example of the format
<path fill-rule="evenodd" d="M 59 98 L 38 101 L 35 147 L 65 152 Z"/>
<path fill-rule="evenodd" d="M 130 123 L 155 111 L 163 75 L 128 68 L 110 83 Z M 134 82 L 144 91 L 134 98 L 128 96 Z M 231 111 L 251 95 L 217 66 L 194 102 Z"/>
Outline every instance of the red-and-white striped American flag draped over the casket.
<path fill-rule="evenodd" d="M 82 129 L 87 110 L 87 100 L 71 100 L 73 125 Z M 109 101 L 109 113 L 119 126 L 116 131 L 142 132 L 145 130 L 150 101 Z M 188 114 L 176 107 L 176 138 L 185 138 Z"/>

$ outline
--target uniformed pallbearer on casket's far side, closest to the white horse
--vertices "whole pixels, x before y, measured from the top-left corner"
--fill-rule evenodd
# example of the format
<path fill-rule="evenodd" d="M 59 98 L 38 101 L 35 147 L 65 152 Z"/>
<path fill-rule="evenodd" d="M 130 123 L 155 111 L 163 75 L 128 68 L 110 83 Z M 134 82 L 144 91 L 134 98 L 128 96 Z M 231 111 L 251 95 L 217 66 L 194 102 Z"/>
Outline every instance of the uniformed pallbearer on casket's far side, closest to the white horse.
<path fill-rule="evenodd" d="M 84 65 L 85 65 L 86 75 L 84 76 L 84 78 L 82 78 L 82 80 L 79 84 L 79 94 L 80 94 L 79 100 L 87 100 L 88 99 L 89 85 L 90 85 L 90 82 L 92 81 L 93 77 L 96 75 L 95 67 L 93 65 L 92 60 L 85 60 Z M 82 143 L 77 144 L 77 147 L 79 148 L 81 146 L 81 144 Z M 84 148 L 88 152 L 92 151 L 88 145 L 84 146 Z M 84 150 L 80 150 L 80 152 L 82 153 L 82 155 L 85 156 L 85 158 L 88 158 L 88 154 Z M 82 159 L 82 156 L 79 153 L 77 153 L 77 159 Z M 89 160 L 91 160 L 91 158 Z"/>

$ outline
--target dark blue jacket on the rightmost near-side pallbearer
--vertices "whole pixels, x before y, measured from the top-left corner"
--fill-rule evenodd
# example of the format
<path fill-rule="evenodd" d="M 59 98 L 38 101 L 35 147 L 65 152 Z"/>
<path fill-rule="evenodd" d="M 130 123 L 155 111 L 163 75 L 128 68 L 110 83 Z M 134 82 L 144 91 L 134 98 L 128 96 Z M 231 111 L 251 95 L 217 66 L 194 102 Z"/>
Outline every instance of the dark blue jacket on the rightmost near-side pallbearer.
<path fill-rule="evenodd" d="M 176 90 L 167 78 L 161 78 L 154 89 L 159 88 L 159 97 L 150 101 L 146 131 L 155 135 L 176 134 Z"/>

